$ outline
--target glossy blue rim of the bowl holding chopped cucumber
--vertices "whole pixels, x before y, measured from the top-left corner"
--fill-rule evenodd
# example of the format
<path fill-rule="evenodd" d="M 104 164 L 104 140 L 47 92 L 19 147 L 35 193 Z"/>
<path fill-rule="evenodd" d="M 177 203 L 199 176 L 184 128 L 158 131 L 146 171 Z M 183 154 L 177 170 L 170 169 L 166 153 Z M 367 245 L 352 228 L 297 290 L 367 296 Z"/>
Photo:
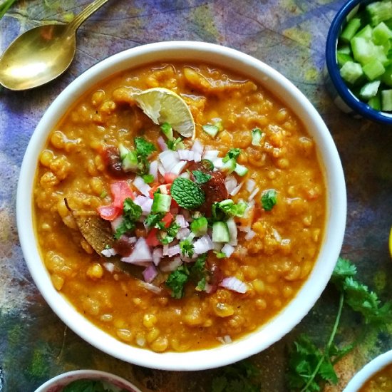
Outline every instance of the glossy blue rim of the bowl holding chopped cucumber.
<path fill-rule="evenodd" d="M 392 125 L 392 113 L 383 112 L 381 110 L 374 110 L 367 103 L 359 100 L 351 93 L 347 87 L 346 82 L 341 78 L 338 63 L 336 60 L 336 48 L 338 43 L 339 34 L 341 32 L 341 26 L 346 23 L 346 17 L 350 12 L 355 9 L 356 6 L 362 4 L 373 3 L 377 0 L 349 0 L 344 4 L 341 9 L 337 12 L 334 19 L 331 22 L 328 34 L 326 36 L 326 68 L 329 73 L 329 77 L 336 88 L 339 96 L 344 100 L 344 103 L 356 113 L 359 113 L 362 117 L 368 118 L 378 123 Z"/>

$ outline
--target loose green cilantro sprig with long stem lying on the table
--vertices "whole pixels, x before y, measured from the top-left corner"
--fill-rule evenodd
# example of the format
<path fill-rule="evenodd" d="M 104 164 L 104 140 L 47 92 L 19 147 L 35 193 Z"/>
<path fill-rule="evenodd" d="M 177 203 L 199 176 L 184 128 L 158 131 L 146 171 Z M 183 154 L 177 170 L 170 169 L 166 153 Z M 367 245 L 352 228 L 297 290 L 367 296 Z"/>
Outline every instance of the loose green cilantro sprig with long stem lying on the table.
<path fill-rule="evenodd" d="M 361 314 L 366 324 L 373 328 L 385 329 L 392 321 L 392 302 L 381 304 L 375 292 L 356 279 L 356 267 L 349 260 L 340 258 L 336 263 L 331 282 L 340 292 L 339 309 L 334 326 L 324 349 L 319 349 L 309 336 L 303 334 L 294 341 L 289 351 L 288 382 L 291 391 L 320 391 L 325 382 L 337 383 L 334 364 L 354 348 L 354 344 L 338 347 L 334 339 L 339 328 L 344 304 Z"/>

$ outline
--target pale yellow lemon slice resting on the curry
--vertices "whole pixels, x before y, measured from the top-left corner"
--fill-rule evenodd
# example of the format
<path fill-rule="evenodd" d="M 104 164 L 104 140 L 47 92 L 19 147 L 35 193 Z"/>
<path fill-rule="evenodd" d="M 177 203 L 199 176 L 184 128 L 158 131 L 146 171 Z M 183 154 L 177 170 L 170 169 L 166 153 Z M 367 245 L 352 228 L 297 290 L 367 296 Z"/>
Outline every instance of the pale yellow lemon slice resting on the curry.
<path fill-rule="evenodd" d="M 169 123 L 185 138 L 195 136 L 195 120 L 187 103 L 178 94 L 157 87 L 133 93 L 132 98 L 155 124 Z"/>

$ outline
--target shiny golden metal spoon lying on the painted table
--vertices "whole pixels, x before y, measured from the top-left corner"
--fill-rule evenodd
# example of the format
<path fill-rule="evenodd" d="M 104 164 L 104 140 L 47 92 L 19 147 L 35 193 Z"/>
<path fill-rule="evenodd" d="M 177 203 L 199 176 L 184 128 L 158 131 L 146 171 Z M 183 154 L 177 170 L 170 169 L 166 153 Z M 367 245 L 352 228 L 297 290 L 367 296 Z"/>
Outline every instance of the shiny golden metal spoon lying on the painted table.
<path fill-rule="evenodd" d="M 93 1 L 69 24 L 38 26 L 16 38 L 0 58 L 0 84 L 28 90 L 60 76 L 75 56 L 79 26 L 106 1 Z"/>

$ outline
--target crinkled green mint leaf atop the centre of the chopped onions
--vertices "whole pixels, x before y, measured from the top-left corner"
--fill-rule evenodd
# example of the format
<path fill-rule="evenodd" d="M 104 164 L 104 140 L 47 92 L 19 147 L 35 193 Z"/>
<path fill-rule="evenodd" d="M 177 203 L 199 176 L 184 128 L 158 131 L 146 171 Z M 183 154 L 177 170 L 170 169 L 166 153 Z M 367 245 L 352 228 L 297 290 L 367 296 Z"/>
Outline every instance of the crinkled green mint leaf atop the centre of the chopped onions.
<path fill-rule="evenodd" d="M 195 210 L 205 202 L 205 193 L 195 182 L 185 177 L 177 177 L 170 188 L 172 198 L 187 210 Z"/>

